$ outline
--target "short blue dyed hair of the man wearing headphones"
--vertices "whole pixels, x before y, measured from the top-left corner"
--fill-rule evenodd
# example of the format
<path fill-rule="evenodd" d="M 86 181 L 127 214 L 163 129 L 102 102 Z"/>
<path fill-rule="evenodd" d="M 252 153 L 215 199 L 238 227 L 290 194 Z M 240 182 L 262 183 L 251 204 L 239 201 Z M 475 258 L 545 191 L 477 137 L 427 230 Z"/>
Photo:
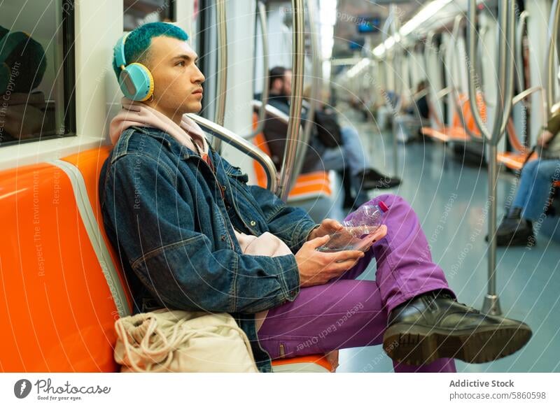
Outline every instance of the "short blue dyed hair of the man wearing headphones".
<path fill-rule="evenodd" d="M 188 40 L 188 34 L 174 24 L 169 24 L 167 22 L 148 22 L 130 31 L 130 34 L 128 34 L 125 41 L 125 58 L 127 64 L 132 64 L 132 62 L 144 64 L 144 62 L 148 60 L 148 48 L 150 48 L 152 38 L 159 36 L 177 38 L 181 41 Z M 120 75 L 120 66 L 117 66 L 115 57 L 113 57 L 113 71 L 115 71 L 115 75 L 118 79 Z"/>

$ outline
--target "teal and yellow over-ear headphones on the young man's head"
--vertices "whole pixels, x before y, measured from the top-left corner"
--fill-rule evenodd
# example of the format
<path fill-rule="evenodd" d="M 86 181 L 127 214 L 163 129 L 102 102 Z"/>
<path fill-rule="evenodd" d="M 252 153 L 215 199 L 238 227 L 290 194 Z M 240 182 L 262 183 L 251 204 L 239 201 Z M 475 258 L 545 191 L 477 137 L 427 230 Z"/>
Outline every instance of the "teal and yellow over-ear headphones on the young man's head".
<path fill-rule="evenodd" d="M 153 95 L 153 76 L 146 66 L 138 62 L 127 64 L 125 57 L 127 35 L 120 37 L 114 48 L 115 62 L 121 69 L 118 84 L 128 99 L 145 101 Z"/>

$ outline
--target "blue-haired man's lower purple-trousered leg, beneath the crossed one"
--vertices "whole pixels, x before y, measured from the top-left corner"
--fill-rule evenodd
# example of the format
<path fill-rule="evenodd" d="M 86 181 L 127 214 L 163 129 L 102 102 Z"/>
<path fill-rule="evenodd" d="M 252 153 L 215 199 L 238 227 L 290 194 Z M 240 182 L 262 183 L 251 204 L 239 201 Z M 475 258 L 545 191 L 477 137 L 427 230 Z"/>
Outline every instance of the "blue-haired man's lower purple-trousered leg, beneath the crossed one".
<path fill-rule="evenodd" d="M 270 357 L 278 359 L 379 345 L 386 325 L 387 310 L 374 281 L 338 280 L 303 288 L 295 301 L 270 309 L 258 339 Z M 393 366 L 395 372 L 456 371 L 452 359 Z"/>

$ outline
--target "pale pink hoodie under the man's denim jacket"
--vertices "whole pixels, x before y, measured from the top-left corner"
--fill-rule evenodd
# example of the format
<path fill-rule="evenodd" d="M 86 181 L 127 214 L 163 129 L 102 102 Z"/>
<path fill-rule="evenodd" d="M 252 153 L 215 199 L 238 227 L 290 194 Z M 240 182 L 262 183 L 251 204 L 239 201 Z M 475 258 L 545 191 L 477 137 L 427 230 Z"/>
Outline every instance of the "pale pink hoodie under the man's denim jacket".
<path fill-rule="evenodd" d="M 158 110 L 146 106 L 144 103 L 123 97 L 122 105 L 123 108 L 111 120 L 111 125 L 109 126 L 109 137 L 113 145 L 117 143 L 123 131 L 129 127 L 154 127 L 165 131 L 169 136 L 179 141 L 179 143 L 190 148 L 190 150 L 197 151 L 194 145 L 194 143 L 197 143 L 204 154 L 208 154 L 208 142 L 204 136 L 204 131 L 187 115 L 183 115 L 181 126 L 178 126 L 169 117 L 158 112 Z M 244 255 L 275 257 L 292 254 L 286 243 L 267 231 L 260 236 L 253 236 L 241 233 L 235 230 L 235 228 L 233 230 Z M 266 315 L 267 311 L 262 311 L 255 316 L 257 330 L 262 325 Z"/>

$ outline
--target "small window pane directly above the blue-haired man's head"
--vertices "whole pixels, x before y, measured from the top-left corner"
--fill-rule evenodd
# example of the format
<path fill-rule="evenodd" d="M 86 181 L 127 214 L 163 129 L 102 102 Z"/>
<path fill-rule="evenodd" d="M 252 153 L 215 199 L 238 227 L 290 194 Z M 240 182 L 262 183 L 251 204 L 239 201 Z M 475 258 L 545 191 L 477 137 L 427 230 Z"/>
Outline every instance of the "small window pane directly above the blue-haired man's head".
<path fill-rule="evenodd" d="M 174 22 L 173 0 L 125 0 L 124 29 L 132 31 L 147 22 Z"/>

